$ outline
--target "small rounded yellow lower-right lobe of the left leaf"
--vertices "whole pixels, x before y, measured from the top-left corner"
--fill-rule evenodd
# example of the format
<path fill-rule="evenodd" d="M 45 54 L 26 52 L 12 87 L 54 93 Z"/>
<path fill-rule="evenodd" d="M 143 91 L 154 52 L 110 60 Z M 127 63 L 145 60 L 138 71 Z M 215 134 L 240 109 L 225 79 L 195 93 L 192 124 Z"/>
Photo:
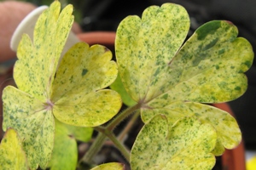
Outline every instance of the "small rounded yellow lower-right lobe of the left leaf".
<path fill-rule="evenodd" d="M 59 121 L 70 125 L 96 127 L 108 122 L 120 107 L 119 94 L 106 89 L 84 95 L 79 103 L 72 99 L 66 102 L 60 100 L 55 104 L 53 114 Z"/>

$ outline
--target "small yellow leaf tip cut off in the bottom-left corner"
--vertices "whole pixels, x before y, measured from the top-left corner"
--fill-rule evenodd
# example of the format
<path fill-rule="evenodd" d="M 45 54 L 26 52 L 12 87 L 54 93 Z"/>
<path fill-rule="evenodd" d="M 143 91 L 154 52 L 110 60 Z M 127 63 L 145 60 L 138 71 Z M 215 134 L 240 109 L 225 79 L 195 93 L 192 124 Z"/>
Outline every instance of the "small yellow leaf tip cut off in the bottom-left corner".
<path fill-rule="evenodd" d="M 27 170 L 25 152 L 22 150 L 20 137 L 13 128 L 9 128 L 0 144 L 1 170 Z"/>

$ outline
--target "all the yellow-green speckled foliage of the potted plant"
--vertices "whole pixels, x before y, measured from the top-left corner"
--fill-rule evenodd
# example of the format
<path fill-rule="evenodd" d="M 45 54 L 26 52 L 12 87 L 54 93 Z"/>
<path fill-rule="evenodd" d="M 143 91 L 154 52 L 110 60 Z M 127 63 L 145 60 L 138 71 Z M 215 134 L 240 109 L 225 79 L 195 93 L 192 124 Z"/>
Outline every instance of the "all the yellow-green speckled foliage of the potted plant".
<path fill-rule="evenodd" d="M 237 37 L 232 23 L 208 22 L 184 43 L 189 15 L 183 7 L 165 3 L 145 9 L 142 19 L 128 16 L 119 24 L 116 62 L 107 48 L 85 42 L 62 58 L 73 7 L 67 5 L 61 14 L 60 8 L 58 1 L 52 3 L 39 17 L 33 41 L 26 35 L 20 41 L 17 88 L 3 90 L 6 137 L 1 144 L 4 151 L 6 144 L 15 143 L 17 150 L 11 151 L 20 156 L 5 156 L 9 161 L 4 165 L 15 167 L 19 161 L 26 168 L 27 159 L 31 169 L 75 169 L 77 140 L 89 141 L 91 127 L 100 134 L 79 165 L 90 163 L 107 137 L 131 169 L 211 169 L 214 156 L 241 142 L 234 117 L 201 104 L 236 99 L 247 89 L 244 72 L 252 65 L 253 50 Z M 128 108 L 119 112 L 121 99 Z M 130 154 L 113 128 L 134 112 L 144 126 Z M 9 137 L 15 132 L 22 141 Z M 94 167 L 104 168 L 124 166 Z"/>

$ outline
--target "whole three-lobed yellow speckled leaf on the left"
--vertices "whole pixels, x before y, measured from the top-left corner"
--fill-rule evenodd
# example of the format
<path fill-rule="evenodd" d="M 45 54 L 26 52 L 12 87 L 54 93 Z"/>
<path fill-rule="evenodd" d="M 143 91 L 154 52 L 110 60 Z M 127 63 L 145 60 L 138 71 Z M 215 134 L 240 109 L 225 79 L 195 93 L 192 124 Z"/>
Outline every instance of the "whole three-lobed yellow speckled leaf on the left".
<path fill-rule="evenodd" d="M 21 38 L 14 68 L 18 88 L 3 90 L 3 130 L 13 127 L 19 133 L 31 169 L 48 165 L 54 147 L 54 117 L 93 127 L 108 122 L 121 106 L 119 94 L 102 90 L 117 77 L 107 48 L 89 48 L 80 42 L 59 63 L 73 25 L 73 7 L 67 5 L 61 14 L 60 10 L 60 2 L 52 3 L 39 16 L 33 40 L 27 35 Z"/>

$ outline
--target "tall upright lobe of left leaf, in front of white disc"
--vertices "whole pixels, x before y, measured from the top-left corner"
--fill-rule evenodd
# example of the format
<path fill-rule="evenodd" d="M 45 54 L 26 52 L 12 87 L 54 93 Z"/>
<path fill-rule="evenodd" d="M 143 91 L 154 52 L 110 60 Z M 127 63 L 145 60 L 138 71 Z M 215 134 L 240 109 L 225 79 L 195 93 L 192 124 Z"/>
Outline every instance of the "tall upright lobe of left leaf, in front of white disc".
<path fill-rule="evenodd" d="M 68 5 L 61 14 L 60 9 L 60 2 L 52 3 L 38 19 L 33 42 L 24 35 L 17 50 L 14 77 L 18 88 L 43 101 L 49 99 L 61 50 L 73 25 L 73 7 Z"/>

